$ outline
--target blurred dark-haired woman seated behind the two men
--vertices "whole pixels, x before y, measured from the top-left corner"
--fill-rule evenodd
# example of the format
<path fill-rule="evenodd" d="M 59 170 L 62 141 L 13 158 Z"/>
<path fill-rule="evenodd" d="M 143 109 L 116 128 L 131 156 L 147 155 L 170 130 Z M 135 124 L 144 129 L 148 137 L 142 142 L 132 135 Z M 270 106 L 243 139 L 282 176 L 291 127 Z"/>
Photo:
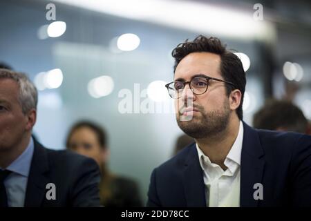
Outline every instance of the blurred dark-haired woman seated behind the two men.
<path fill-rule="evenodd" d="M 109 171 L 109 148 L 106 132 L 93 122 L 77 122 L 70 128 L 66 147 L 71 151 L 93 158 L 100 166 L 100 199 L 103 206 L 142 206 L 138 184 Z"/>

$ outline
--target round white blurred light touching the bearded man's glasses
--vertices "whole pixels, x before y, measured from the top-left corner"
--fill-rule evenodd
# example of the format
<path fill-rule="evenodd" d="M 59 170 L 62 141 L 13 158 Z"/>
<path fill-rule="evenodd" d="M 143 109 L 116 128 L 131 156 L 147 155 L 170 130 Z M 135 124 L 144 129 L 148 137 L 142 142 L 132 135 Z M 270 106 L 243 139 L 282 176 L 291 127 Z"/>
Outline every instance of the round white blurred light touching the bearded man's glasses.
<path fill-rule="evenodd" d="M 169 99 L 165 81 L 152 81 L 147 87 L 147 95 L 153 102 L 164 102 Z"/>

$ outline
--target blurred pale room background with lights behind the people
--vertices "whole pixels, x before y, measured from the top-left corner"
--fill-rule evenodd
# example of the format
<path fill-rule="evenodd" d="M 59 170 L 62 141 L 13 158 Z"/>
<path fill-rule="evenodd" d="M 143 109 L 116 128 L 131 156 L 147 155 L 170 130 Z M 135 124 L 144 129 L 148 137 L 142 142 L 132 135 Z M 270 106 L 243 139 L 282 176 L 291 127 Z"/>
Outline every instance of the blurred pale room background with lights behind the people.
<path fill-rule="evenodd" d="M 0 61 L 39 90 L 37 139 L 64 149 L 77 120 L 104 126 L 111 171 L 133 177 L 144 201 L 152 169 L 182 135 L 164 84 L 171 50 L 185 39 L 219 37 L 239 53 L 247 124 L 272 97 L 311 120 L 310 1 L 6 0 L 0 8 Z"/>

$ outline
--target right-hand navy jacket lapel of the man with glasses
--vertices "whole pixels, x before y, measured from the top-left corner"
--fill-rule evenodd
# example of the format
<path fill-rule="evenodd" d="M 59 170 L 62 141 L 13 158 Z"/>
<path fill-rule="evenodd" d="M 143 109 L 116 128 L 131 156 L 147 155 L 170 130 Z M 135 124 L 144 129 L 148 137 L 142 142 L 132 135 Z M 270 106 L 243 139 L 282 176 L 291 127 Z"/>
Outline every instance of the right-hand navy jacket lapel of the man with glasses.
<path fill-rule="evenodd" d="M 241 191 L 240 206 L 258 206 L 260 200 L 254 199 L 254 184 L 261 184 L 265 160 L 258 133 L 243 122 L 244 135 L 241 153 Z M 265 189 L 263 188 L 263 193 Z"/>

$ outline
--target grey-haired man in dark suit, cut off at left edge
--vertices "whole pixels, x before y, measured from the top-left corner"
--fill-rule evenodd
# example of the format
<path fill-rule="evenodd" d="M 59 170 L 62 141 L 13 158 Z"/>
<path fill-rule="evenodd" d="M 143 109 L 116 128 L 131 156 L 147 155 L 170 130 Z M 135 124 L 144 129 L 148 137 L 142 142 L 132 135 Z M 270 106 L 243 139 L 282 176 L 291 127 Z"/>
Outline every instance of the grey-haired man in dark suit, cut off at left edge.
<path fill-rule="evenodd" d="M 95 161 L 32 138 L 37 100 L 26 75 L 0 69 L 0 207 L 100 206 Z"/>

